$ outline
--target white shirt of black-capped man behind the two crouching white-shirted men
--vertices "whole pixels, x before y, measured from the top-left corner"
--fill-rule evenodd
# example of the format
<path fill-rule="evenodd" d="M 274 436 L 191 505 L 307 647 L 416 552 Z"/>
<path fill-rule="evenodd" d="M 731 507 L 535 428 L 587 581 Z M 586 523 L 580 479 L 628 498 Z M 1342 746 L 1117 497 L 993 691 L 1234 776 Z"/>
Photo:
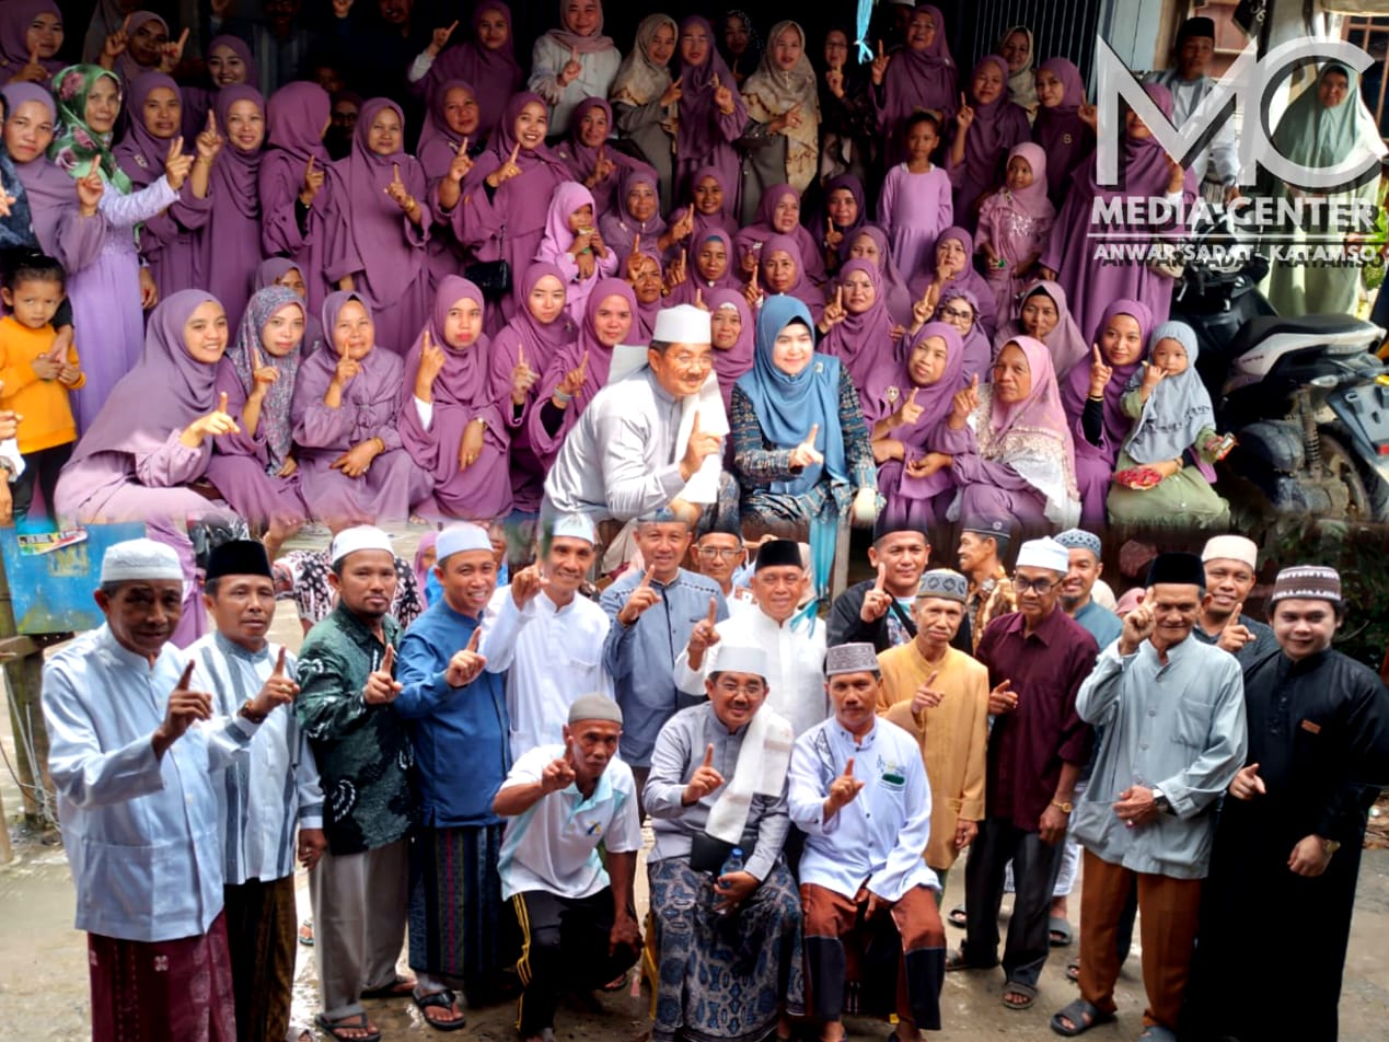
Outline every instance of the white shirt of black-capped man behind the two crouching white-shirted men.
<path fill-rule="evenodd" d="M 704 653 L 699 670 L 689 664 L 689 650 L 675 660 L 675 686 L 686 695 L 703 695 L 704 678 L 718 665 L 726 645 L 753 645 L 767 653 L 767 704 L 790 721 L 796 736 L 829 716 L 825 693 L 825 627 L 815 621 L 810 632 L 778 625 L 756 604 L 714 627 L 720 642 Z"/>

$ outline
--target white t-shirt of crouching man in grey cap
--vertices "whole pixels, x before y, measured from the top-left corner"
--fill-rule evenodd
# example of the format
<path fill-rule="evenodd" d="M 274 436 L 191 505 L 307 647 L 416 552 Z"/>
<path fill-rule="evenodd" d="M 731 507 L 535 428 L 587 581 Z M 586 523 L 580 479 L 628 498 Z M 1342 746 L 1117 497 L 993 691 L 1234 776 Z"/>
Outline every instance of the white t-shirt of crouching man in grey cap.
<path fill-rule="evenodd" d="M 532 749 L 515 761 L 501 788 L 540 781 L 546 766 L 561 756 L 563 745 Z M 497 866 L 503 900 L 526 891 L 590 898 L 608 885 L 599 843 L 613 854 L 642 849 L 632 768 L 615 759 L 608 761 L 590 797 L 583 799 L 571 784 L 546 793 L 525 814 L 507 821 Z"/>

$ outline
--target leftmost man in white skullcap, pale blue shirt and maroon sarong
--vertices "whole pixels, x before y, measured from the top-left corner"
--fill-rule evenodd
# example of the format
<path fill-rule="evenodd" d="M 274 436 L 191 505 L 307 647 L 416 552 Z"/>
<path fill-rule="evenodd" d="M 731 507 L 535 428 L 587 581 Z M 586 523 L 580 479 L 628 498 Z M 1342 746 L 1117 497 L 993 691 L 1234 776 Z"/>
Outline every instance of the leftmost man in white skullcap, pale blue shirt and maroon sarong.
<path fill-rule="evenodd" d="M 258 724 L 214 721 L 213 696 L 190 689 L 193 664 L 169 643 L 183 604 L 172 549 L 111 546 L 96 603 L 106 622 L 43 667 L 49 772 L 76 928 L 88 932 L 92 1036 L 229 1041 L 214 774 L 249 756 Z"/>

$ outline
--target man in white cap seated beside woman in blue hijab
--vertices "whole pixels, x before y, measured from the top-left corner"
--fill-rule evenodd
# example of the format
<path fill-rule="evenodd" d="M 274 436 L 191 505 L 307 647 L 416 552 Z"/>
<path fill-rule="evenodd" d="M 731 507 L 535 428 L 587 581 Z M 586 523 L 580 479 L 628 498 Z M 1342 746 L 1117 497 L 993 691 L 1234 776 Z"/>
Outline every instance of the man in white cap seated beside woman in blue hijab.
<path fill-rule="evenodd" d="M 646 365 L 599 390 L 586 408 L 560 390 L 538 403 L 532 445 L 542 460 L 557 453 L 544 479 L 542 515 L 631 521 L 672 507 L 693 524 L 700 507 L 681 495 L 700 471 L 717 490 L 728 432 L 711 352 L 708 313 L 689 304 L 669 307 L 656 317 Z M 567 424 L 569 408 L 583 413 Z"/>

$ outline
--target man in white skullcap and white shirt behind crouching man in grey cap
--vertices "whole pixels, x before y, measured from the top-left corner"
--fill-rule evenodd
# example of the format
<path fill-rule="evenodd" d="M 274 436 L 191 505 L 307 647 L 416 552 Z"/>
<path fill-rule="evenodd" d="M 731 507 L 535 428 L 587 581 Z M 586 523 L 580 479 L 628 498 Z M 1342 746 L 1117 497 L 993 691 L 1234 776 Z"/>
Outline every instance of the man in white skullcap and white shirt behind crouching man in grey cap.
<path fill-rule="evenodd" d="M 478 650 L 488 672 L 506 678 L 513 760 L 551 745 L 579 695 L 613 693 L 603 668 L 608 617 L 579 593 L 596 542 L 588 515 L 560 514 L 542 527 L 540 560 L 488 604 Z"/>

